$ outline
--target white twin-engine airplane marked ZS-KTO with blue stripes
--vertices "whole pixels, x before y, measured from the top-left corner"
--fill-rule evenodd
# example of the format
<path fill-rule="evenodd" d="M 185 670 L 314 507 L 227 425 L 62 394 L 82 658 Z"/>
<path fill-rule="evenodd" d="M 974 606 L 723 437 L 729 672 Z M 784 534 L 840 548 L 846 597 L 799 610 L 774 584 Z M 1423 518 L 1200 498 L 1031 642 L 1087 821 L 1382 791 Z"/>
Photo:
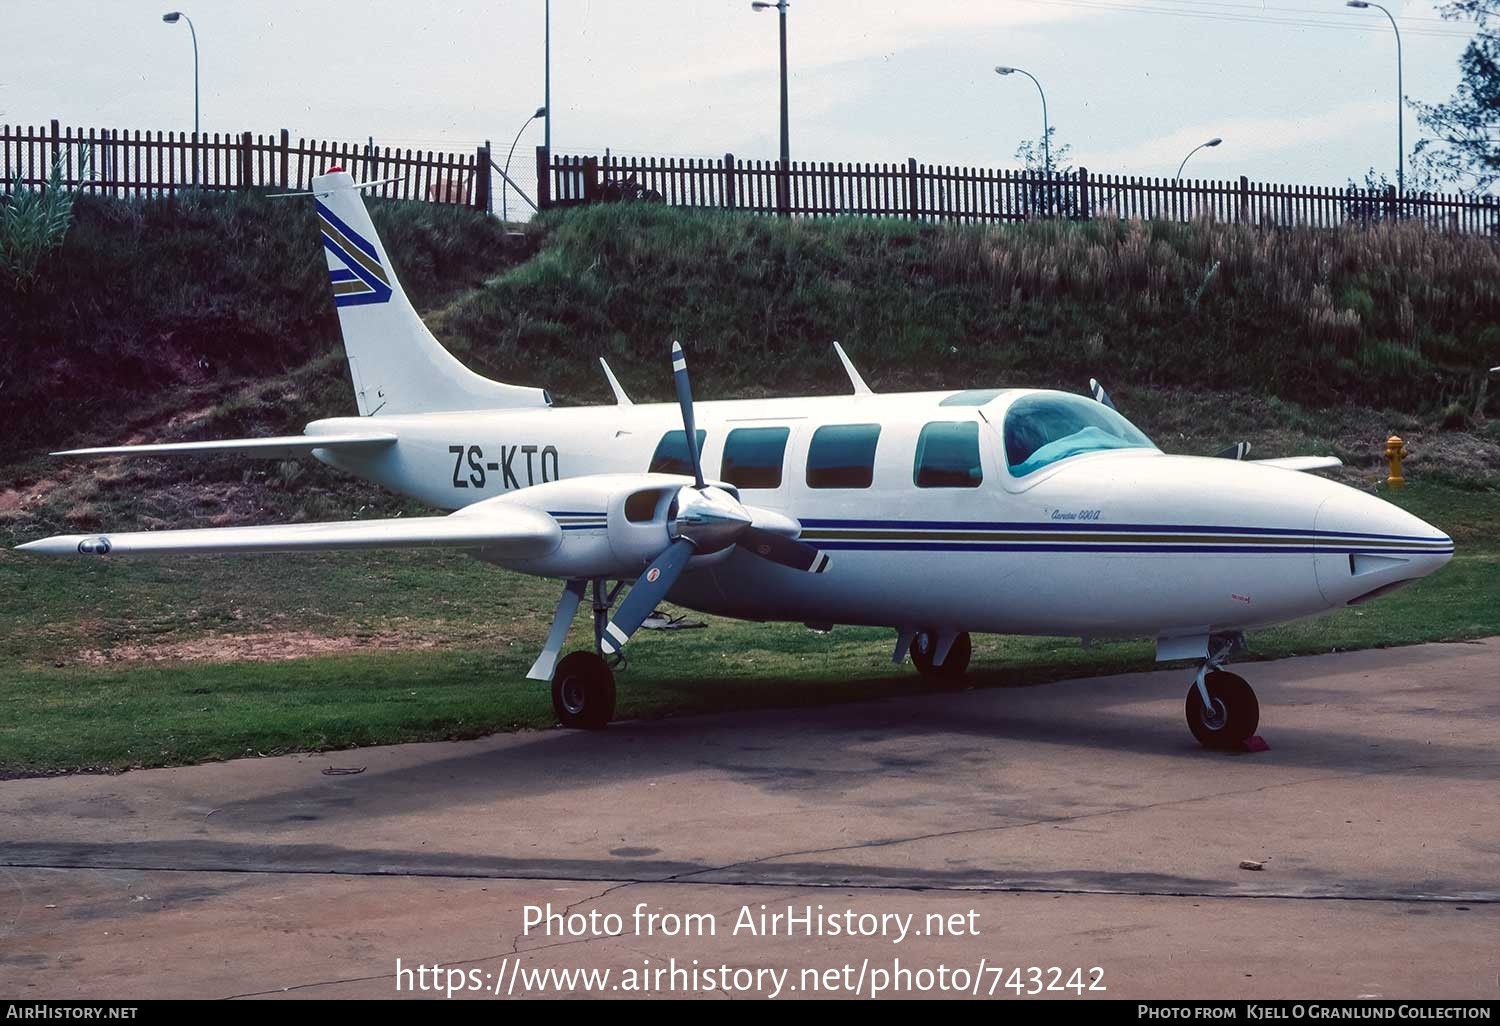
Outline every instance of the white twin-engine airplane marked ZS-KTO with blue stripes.
<path fill-rule="evenodd" d="M 1152 636 L 1196 658 L 1188 726 L 1256 732 L 1222 669 L 1244 632 L 1366 602 L 1448 562 L 1442 531 L 1305 472 L 1332 458 L 1168 456 L 1094 398 L 1034 388 L 694 406 L 554 410 L 482 378 L 428 332 L 342 170 L 314 180 L 358 417 L 300 436 L 84 448 L 63 456 L 314 456 L 448 516 L 60 536 L 27 552 L 120 556 L 447 546 L 564 582 L 528 676 L 566 726 L 615 710 L 615 656 L 663 600 L 752 621 L 894 627 L 894 658 L 962 675 L 969 633 Z M 837 344 L 836 344 L 837 345 Z M 717 468 L 705 477 L 704 466 Z M 615 603 L 624 582 L 634 582 Z M 594 648 L 558 656 L 592 585 Z M 614 612 L 610 612 L 614 610 Z"/>

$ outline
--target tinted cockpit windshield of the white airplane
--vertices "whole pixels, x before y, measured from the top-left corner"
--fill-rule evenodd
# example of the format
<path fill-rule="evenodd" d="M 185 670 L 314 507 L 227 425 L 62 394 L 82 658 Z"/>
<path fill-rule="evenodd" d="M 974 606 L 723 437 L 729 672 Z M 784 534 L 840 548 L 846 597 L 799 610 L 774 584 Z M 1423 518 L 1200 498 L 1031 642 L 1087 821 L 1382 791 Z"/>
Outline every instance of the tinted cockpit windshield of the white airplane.
<path fill-rule="evenodd" d="M 1104 448 L 1155 448 L 1104 404 L 1064 393 L 1022 396 L 1005 414 L 1005 462 L 1026 477 L 1059 459 Z"/>

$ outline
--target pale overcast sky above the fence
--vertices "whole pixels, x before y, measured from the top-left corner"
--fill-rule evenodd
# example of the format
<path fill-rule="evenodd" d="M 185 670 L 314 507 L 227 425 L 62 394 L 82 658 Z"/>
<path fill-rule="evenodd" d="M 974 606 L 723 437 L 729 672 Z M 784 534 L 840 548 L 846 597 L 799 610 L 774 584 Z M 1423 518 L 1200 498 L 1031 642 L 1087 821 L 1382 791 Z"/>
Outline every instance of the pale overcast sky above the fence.
<path fill-rule="evenodd" d="M 204 130 L 504 153 L 543 96 L 543 0 L 178 0 L 198 30 Z M 1454 90 L 1468 26 L 1386 0 L 1406 93 Z M 188 26 L 162 3 L 4 0 L 0 122 L 192 128 Z M 794 0 L 794 159 L 1010 166 L 1041 134 L 1074 164 L 1342 184 L 1394 176 L 1395 38 L 1342 0 Z M 552 0 L 560 153 L 774 158 L 777 16 L 748 0 Z M 1407 114 L 1407 148 L 1419 138 Z M 532 124 L 518 148 L 531 166 Z M 530 186 L 534 176 L 525 176 Z"/>

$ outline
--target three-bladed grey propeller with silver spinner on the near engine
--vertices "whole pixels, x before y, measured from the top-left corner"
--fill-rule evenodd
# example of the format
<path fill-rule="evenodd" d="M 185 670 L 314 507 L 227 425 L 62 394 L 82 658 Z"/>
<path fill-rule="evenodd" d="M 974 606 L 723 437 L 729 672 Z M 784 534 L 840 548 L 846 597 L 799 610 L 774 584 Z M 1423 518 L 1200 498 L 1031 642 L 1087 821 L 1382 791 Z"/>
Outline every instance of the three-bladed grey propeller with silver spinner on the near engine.
<path fill-rule="evenodd" d="M 609 656 L 618 652 L 640 628 L 694 555 L 718 552 L 735 544 L 792 570 L 807 573 L 828 570 L 825 552 L 790 537 L 801 530 L 796 520 L 742 506 L 724 489 L 704 480 L 698 424 L 693 418 L 693 384 L 687 376 L 687 356 L 680 342 L 672 344 L 672 382 L 676 386 L 676 404 L 682 410 L 682 434 L 687 440 L 687 458 L 693 464 L 693 484 L 676 494 L 674 502 L 676 514 L 668 525 L 670 544 L 636 579 L 630 594 L 604 626 L 598 645 Z"/>

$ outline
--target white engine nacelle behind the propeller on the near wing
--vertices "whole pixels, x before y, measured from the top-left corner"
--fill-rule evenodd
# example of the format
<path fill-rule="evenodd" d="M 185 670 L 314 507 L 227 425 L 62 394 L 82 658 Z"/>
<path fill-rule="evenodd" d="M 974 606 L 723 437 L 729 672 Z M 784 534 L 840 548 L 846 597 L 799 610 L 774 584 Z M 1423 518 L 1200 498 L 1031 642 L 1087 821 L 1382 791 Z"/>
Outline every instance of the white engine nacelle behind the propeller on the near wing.
<path fill-rule="evenodd" d="M 630 579 L 672 543 L 670 514 L 678 492 L 690 477 L 675 474 L 591 474 L 546 484 L 465 507 L 456 516 L 483 516 L 498 506 L 526 506 L 550 514 L 562 526 L 558 548 L 530 560 L 482 560 L 543 578 Z M 735 494 L 734 488 L 722 486 Z M 690 568 L 729 556 L 729 549 L 694 555 Z"/>

